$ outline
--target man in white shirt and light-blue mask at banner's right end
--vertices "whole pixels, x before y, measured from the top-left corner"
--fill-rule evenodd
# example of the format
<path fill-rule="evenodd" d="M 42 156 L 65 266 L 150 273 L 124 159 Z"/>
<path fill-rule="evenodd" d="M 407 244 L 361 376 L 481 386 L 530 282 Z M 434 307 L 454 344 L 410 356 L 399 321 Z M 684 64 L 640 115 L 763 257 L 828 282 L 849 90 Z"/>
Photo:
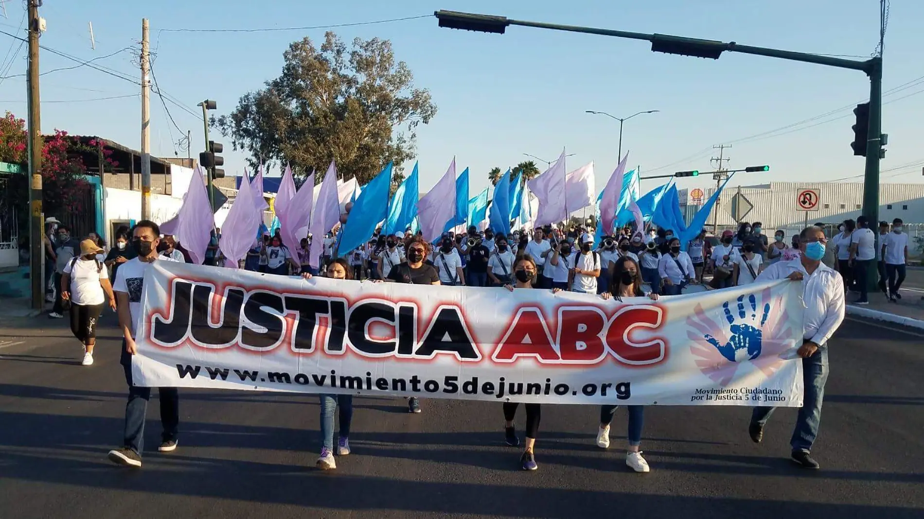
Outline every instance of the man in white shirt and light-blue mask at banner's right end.
<path fill-rule="evenodd" d="M 818 437 L 824 383 L 828 380 L 828 340 L 844 320 L 844 281 L 837 272 L 821 263 L 826 239 L 820 228 L 812 225 L 801 233 L 798 259 L 779 261 L 758 275 L 757 282 L 791 279 L 802 283 L 805 305 L 805 329 L 796 354 L 802 357 L 805 396 L 796 418 L 790 441 L 792 458 L 805 468 L 819 468 L 808 454 Z M 763 428 L 773 407 L 755 407 L 748 434 L 755 443 L 763 439 Z"/>

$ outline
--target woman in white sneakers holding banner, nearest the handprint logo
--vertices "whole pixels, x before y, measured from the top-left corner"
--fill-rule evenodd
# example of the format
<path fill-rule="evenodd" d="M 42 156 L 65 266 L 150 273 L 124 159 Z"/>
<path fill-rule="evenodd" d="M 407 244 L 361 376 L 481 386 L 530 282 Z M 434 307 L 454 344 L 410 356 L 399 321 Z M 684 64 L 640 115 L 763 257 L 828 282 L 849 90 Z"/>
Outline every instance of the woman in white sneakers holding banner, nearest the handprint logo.
<path fill-rule="evenodd" d="M 638 263 L 635 259 L 623 256 L 614 263 L 613 293 L 604 292 L 601 294 L 603 299 L 615 297 L 622 301 L 623 297 L 643 297 L 645 292 L 641 289 L 641 276 L 639 275 Z M 657 301 L 658 295 L 650 292 L 650 299 Z M 600 430 L 597 431 L 597 446 L 606 449 L 610 446 L 610 423 L 613 422 L 613 416 L 619 405 L 602 405 L 600 407 Z M 639 446 L 641 445 L 641 427 L 644 423 L 645 407 L 642 405 L 629 405 L 629 422 L 628 422 L 628 441 L 629 446 L 626 450 L 626 465 L 636 472 L 648 472 L 650 470 L 648 462 L 641 456 Z"/>

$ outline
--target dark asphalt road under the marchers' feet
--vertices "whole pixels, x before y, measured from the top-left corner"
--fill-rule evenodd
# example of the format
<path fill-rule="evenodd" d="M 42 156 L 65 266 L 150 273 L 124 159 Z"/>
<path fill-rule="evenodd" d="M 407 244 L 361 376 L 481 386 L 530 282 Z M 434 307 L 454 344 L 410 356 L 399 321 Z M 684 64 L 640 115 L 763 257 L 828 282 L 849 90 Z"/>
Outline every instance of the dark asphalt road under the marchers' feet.
<path fill-rule="evenodd" d="M 45 322 L 41 321 L 44 325 Z M 62 321 L 0 322 L 0 517 L 924 517 L 924 333 L 845 321 L 813 455 L 788 460 L 795 410 L 748 439 L 741 407 L 649 407 L 642 448 L 651 472 L 625 465 L 626 415 L 613 446 L 594 445 L 598 410 L 543 408 L 536 456 L 518 469 L 503 444 L 500 404 L 355 401 L 353 454 L 314 467 L 317 398 L 181 391 L 175 453 L 158 454 L 149 408 L 144 467 L 111 465 L 126 387 L 116 331 L 96 365 Z M 18 344 L 19 343 L 19 344 Z M 154 400 L 154 399 L 152 399 Z M 525 416 L 517 416 L 522 431 Z"/>

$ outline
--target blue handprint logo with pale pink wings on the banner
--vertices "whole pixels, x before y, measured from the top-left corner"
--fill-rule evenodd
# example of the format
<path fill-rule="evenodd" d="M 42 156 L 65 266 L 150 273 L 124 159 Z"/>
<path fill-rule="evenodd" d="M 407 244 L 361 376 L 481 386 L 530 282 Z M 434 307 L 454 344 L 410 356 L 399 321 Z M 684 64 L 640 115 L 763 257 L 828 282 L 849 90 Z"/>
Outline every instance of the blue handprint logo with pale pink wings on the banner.
<path fill-rule="evenodd" d="M 771 376 L 784 362 L 781 356 L 796 338 L 780 296 L 769 288 L 758 296 L 739 296 L 734 311 L 731 301 L 723 305 L 724 320 L 713 319 L 701 305 L 687 318 L 690 353 L 700 371 L 723 386 L 735 378 L 742 365 L 750 362 Z"/>

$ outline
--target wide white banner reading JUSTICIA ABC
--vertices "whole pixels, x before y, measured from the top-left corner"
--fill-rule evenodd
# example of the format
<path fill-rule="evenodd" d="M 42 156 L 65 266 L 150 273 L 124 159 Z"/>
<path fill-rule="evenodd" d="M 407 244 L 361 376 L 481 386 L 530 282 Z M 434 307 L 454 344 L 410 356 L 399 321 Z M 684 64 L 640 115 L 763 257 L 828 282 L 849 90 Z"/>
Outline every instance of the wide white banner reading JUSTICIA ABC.
<path fill-rule="evenodd" d="M 659 301 L 156 261 L 140 386 L 543 404 L 802 404 L 800 284 Z"/>

